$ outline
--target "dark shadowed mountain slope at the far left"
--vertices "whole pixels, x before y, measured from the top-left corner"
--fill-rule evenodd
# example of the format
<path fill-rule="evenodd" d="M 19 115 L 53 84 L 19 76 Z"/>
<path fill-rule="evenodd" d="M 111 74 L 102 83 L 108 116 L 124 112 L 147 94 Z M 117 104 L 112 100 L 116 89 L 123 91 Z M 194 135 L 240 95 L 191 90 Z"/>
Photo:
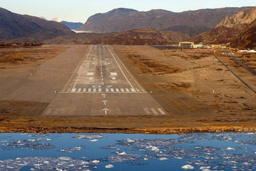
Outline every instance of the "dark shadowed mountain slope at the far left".
<path fill-rule="evenodd" d="M 73 32 L 65 25 L 29 15 L 19 15 L 0 7 L 0 40 L 11 41 L 29 37 L 40 41 Z"/>

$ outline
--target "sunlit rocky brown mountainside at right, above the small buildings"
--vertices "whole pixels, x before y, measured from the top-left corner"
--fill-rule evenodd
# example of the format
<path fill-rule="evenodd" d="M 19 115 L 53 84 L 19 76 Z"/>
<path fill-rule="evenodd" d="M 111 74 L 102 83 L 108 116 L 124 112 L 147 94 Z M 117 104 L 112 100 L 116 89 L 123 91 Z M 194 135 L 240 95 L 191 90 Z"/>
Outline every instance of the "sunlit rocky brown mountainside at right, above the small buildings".
<path fill-rule="evenodd" d="M 239 41 L 237 39 L 244 39 L 246 41 L 247 34 L 252 36 L 253 22 L 255 19 L 256 7 L 244 9 L 233 16 L 226 16 L 213 30 L 201 33 L 193 37 L 192 40 L 204 43 L 228 43 L 236 41 L 236 45 L 238 45 Z"/>

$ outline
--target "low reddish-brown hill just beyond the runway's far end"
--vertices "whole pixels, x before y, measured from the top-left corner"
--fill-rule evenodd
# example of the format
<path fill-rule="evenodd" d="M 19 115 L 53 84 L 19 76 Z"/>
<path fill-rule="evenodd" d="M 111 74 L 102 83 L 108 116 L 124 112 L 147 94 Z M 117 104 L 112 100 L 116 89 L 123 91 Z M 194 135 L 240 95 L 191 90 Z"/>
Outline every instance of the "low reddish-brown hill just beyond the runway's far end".
<path fill-rule="evenodd" d="M 141 28 L 103 37 L 90 43 L 106 45 L 168 45 L 189 39 L 188 34 L 184 33 Z"/>

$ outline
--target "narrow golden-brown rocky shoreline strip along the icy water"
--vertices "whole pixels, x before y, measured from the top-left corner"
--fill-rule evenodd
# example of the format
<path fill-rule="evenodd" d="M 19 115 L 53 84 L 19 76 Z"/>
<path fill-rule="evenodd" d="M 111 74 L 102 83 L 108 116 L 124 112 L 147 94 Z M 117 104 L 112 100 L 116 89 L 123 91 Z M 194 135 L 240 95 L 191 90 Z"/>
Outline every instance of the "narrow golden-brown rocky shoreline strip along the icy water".
<path fill-rule="evenodd" d="M 158 127 L 158 128 L 93 128 L 93 127 L 0 127 L 3 133 L 105 133 L 105 134 L 189 134 L 189 133 L 256 133 L 256 126 L 196 126 L 196 127 Z"/>

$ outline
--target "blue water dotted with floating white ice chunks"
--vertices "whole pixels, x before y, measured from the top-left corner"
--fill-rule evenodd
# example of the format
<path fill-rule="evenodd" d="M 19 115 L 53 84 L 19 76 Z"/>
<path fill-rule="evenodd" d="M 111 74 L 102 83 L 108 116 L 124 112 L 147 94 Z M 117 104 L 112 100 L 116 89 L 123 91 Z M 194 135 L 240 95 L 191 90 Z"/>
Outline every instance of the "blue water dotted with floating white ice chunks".
<path fill-rule="evenodd" d="M 256 171 L 256 134 L 0 134 L 0 171 Z"/>

